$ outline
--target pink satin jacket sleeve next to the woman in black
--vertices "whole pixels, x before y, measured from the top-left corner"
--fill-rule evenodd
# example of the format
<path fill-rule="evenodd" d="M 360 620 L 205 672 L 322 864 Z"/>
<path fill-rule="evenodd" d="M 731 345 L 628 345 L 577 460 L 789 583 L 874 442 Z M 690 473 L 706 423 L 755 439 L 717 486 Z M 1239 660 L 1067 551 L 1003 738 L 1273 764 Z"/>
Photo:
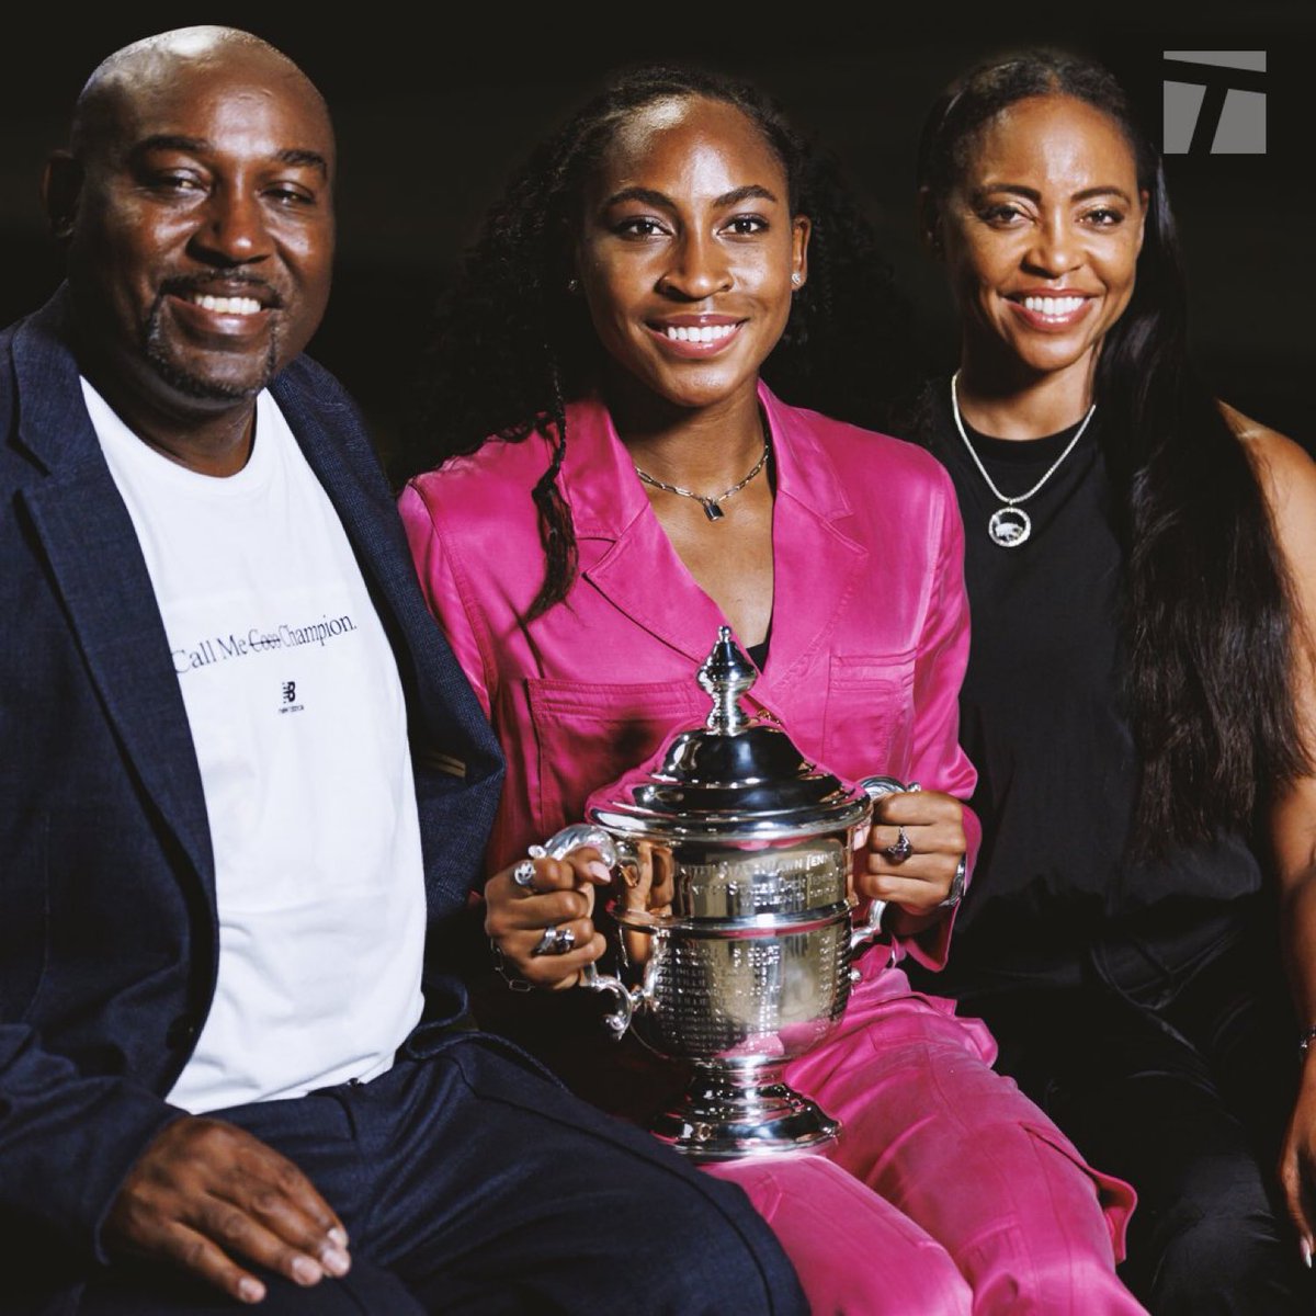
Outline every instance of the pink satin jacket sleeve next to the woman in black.
<path fill-rule="evenodd" d="M 965 530 L 950 476 L 937 468 L 940 534 L 913 671 L 912 778 L 928 790 L 945 791 L 967 800 L 978 780 L 969 757 L 959 747 L 959 687 L 969 663 L 969 595 L 965 592 Z M 969 873 L 978 858 L 982 826 L 965 805 L 966 862 Z M 916 937 L 901 937 L 898 953 L 908 954 L 928 969 L 941 969 L 950 950 L 955 911 Z"/>

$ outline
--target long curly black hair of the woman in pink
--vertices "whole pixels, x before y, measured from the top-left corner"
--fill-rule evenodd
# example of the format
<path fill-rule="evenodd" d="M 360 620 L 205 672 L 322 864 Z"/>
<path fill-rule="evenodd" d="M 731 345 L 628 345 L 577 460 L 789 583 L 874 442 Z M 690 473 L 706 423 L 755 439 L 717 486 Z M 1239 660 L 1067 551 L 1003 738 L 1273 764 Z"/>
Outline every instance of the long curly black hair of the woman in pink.
<path fill-rule="evenodd" d="M 488 437 L 541 434 L 553 459 L 530 491 L 545 575 L 526 620 L 559 603 L 575 576 L 575 534 L 557 475 L 566 404 L 597 383 L 600 346 L 569 291 L 584 187 L 617 132 L 655 101 L 707 97 L 740 109 L 780 159 L 792 213 L 808 215 L 809 278 L 765 365 L 797 405 L 880 426 L 912 366 L 908 309 L 878 259 L 871 229 L 834 159 L 807 142 L 757 87 L 695 67 L 645 66 L 616 76 L 542 142 L 484 220 L 440 307 L 403 461 L 412 470 L 475 451 Z"/>

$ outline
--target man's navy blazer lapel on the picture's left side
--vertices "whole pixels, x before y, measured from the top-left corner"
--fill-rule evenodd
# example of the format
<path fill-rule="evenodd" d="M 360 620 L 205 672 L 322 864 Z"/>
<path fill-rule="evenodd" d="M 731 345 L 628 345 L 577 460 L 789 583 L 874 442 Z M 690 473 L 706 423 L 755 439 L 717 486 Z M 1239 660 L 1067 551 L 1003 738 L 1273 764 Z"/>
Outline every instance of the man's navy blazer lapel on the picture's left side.
<path fill-rule="evenodd" d="M 70 626 L 142 787 L 183 846 L 213 907 L 205 796 L 164 624 L 128 508 L 61 340 L 62 299 L 14 337 L 18 438 L 49 472 L 20 492 Z"/>

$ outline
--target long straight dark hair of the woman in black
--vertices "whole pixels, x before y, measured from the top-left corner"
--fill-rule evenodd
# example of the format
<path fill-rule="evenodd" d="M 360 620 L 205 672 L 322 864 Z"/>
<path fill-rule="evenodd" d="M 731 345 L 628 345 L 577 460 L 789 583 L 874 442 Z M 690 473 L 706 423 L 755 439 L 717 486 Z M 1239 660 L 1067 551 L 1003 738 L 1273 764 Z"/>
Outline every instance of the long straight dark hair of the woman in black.
<path fill-rule="evenodd" d="M 1292 699 L 1290 586 L 1261 484 L 1188 359 L 1187 287 L 1159 154 L 1115 76 L 1026 50 L 973 70 L 928 117 L 919 183 L 944 207 L 982 130 L 1032 96 L 1107 114 L 1148 195 L 1132 300 L 1107 333 L 1094 400 L 1126 551 L 1126 691 L 1141 761 L 1133 845 L 1158 854 L 1249 829 L 1308 767 Z"/>

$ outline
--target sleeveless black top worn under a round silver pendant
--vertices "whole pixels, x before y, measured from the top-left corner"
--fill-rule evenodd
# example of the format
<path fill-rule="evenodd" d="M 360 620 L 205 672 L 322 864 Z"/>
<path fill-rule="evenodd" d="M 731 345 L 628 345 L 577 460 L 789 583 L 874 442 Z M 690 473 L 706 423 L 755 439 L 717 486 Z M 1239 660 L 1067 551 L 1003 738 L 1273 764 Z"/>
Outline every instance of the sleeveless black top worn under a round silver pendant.
<path fill-rule="evenodd" d="M 1073 983 L 1094 962 L 1103 976 L 1128 969 L 1144 978 L 1219 941 L 1257 904 L 1248 898 L 1261 873 L 1238 836 L 1157 863 L 1125 857 L 1137 761 L 1120 690 L 1123 553 L 1099 425 L 1100 412 L 1021 504 L 1029 538 L 1001 547 L 988 534 L 1001 500 L 954 426 L 949 384 L 937 388 L 929 446 L 965 521 L 973 642 L 961 741 L 979 772 L 973 808 L 983 849 L 933 990 L 973 996 L 1024 980 Z M 1075 429 L 1025 442 L 967 433 L 1013 497 Z"/>

